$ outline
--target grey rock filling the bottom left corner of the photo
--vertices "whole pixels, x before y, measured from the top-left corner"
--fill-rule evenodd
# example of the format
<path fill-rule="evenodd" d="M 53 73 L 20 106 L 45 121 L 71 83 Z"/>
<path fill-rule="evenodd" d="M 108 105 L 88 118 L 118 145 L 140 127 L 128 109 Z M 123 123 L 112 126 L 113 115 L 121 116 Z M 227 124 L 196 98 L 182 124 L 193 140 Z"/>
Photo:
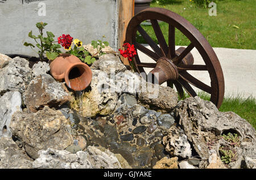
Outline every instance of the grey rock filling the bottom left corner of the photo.
<path fill-rule="evenodd" d="M 0 138 L 0 169 L 30 169 L 32 159 L 11 138 Z"/>

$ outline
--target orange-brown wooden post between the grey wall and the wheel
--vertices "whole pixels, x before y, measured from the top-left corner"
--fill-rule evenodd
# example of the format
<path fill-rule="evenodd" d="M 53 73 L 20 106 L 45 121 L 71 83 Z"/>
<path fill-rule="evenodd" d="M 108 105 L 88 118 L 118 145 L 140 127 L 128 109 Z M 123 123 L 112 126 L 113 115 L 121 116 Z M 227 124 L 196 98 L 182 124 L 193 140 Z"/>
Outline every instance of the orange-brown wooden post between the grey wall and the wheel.
<path fill-rule="evenodd" d="M 118 45 L 122 48 L 125 41 L 126 28 L 130 19 L 134 16 L 134 0 L 119 0 L 119 28 L 118 28 Z M 130 65 L 127 58 L 121 57 L 125 65 Z"/>

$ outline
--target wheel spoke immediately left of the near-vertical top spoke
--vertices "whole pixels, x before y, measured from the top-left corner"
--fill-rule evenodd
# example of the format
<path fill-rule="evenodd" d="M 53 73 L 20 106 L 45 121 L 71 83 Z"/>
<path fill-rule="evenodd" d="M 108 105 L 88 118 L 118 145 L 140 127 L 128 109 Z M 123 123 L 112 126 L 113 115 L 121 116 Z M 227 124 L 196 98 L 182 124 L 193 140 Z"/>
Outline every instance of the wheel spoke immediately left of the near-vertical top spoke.
<path fill-rule="evenodd" d="M 150 20 L 152 27 L 155 31 L 155 36 L 158 39 L 158 43 L 160 45 L 160 48 L 162 52 L 164 53 L 164 56 L 166 57 L 168 54 L 168 45 L 166 43 L 166 40 L 164 39 L 163 32 L 160 29 L 160 26 L 158 24 L 158 21 L 155 19 Z"/>

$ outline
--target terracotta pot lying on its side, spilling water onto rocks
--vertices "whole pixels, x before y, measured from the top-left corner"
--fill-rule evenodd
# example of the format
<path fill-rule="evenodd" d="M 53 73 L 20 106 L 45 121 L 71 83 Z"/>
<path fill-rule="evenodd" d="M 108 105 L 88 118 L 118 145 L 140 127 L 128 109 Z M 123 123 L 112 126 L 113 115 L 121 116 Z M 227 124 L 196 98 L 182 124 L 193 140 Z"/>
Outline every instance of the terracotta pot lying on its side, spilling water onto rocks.
<path fill-rule="evenodd" d="M 65 80 L 69 88 L 82 91 L 92 81 L 92 71 L 79 58 L 71 54 L 60 54 L 50 64 L 51 75 L 59 82 Z"/>

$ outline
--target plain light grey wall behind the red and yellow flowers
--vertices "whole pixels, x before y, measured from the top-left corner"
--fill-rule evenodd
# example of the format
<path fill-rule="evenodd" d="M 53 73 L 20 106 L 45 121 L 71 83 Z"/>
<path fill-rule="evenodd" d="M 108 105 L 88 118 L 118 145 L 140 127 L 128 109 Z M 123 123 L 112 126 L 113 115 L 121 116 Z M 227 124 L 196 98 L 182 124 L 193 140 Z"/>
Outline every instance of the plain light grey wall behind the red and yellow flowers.
<path fill-rule="evenodd" d="M 45 3 L 46 16 L 39 16 L 39 3 Z M 38 34 L 37 22 L 48 23 L 55 39 L 65 33 L 89 44 L 105 35 L 118 48 L 118 0 L 0 0 L 1 53 L 35 55 L 23 44 L 33 42 L 28 32 Z"/>

